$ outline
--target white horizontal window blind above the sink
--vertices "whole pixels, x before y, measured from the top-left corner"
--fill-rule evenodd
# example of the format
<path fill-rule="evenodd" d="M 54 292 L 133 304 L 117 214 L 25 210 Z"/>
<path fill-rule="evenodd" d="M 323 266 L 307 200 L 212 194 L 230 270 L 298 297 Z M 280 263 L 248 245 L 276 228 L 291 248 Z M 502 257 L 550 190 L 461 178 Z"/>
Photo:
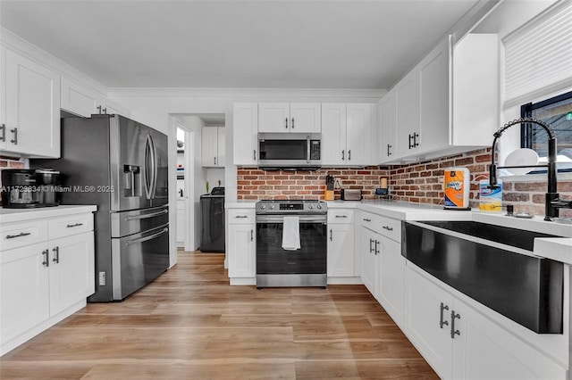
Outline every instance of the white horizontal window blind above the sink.
<path fill-rule="evenodd" d="M 572 1 L 563 0 L 502 40 L 505 101 L 572 79 Z"/>

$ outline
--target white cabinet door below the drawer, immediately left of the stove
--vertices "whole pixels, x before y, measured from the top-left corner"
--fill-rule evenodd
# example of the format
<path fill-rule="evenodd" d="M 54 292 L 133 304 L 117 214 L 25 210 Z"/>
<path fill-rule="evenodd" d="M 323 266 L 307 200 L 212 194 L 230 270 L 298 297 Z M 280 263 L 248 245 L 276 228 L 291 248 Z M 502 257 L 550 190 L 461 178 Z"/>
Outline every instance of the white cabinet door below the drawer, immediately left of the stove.
<path fill-rule="evenodd" d="M 256 277 L 256 227 L 229 224 L 229 277 Z"/>

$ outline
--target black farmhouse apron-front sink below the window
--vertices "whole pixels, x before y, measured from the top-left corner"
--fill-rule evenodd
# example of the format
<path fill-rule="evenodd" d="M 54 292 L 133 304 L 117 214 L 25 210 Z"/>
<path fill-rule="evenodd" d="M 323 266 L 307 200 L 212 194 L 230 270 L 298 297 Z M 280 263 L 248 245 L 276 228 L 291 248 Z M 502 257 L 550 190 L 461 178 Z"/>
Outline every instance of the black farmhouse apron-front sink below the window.
<path fill-rule="evenodd" d="M 401 255 L 537 334 L 562 334 L 562 262 L 534 254 L 560 237 L 477 221 L 404 221 Z"/>

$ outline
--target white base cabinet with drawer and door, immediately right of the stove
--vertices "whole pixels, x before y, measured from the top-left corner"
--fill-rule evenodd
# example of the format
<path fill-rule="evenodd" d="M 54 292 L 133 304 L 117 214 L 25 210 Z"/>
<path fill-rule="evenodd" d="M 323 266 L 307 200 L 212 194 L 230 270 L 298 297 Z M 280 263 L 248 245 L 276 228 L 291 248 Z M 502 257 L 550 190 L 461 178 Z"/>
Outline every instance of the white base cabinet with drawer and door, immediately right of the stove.
<path fill-rule="evenodd" d="M 355 277 L 354 211 L 328 209 L 328 277 Z"/>

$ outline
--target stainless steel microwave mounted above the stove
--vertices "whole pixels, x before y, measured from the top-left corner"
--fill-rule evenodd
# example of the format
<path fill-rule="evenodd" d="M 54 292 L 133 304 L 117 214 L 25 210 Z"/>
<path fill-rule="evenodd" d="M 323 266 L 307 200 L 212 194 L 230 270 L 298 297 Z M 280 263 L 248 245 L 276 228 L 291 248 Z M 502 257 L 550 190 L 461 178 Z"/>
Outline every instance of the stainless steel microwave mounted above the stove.
<path fill-rule="evenodd" d="M 315 133 L 259 133 L 258 167 L 262 169 L 319 169 L 321 135 Z"/>

